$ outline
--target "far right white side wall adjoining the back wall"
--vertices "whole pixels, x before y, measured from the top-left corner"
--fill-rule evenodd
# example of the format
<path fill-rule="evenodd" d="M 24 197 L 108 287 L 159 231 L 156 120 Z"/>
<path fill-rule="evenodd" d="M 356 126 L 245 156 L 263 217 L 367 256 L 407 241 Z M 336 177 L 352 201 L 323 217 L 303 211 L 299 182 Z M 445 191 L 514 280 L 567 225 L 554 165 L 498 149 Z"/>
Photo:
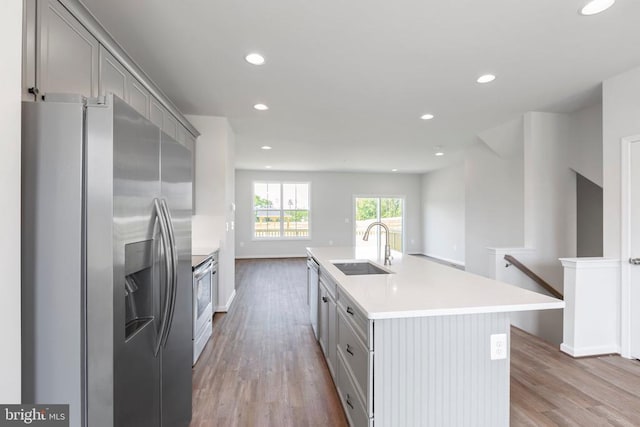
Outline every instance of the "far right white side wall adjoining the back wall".
<path fill-rule="evenodd" d="M 422 176 L 423 253 L 465 263 L 464 166 L 454 165 Z"/>

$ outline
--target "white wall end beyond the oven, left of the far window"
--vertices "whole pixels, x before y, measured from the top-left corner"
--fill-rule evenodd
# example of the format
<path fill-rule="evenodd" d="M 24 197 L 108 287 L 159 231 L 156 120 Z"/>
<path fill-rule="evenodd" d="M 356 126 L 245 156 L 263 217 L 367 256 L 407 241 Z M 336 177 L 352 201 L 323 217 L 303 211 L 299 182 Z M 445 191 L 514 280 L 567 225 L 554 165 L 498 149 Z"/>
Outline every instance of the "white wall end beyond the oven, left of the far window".
<path fill-rule="evenodd" d="M 194 252 L 219 247 L 218 311 L 226 311 L 235 295 L 233 224 L 235 134 L 224 117 L 186 116 L 201 133 L 196 141 L 196 214 Z"/>

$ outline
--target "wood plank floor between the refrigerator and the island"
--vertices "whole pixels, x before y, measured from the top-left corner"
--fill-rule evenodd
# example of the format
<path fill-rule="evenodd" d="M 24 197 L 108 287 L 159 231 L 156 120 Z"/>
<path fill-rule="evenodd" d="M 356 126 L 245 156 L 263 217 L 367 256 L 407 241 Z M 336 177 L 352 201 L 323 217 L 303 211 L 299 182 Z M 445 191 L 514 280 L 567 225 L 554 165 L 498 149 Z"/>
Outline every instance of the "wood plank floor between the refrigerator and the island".
<path fill-rule="evenodd" d="M 192 427 L 346 426 L 307 306 L 304 260 L 241 260 L 193 370 Z"/>

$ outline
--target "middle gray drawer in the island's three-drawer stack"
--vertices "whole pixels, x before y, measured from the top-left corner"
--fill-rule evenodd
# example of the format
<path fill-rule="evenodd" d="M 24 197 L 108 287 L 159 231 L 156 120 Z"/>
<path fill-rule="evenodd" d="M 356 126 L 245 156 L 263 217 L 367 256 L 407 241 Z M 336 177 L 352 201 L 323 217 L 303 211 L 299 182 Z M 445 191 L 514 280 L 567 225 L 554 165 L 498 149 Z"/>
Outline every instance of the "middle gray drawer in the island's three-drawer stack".
<path fill-rule="evenodd" d="M 364 402 L 369 402 L 369 366 L 373 353 L 356 336 L 343 313 L 338 314 L 338 349 L 353 374 L 356 388 Z"/>

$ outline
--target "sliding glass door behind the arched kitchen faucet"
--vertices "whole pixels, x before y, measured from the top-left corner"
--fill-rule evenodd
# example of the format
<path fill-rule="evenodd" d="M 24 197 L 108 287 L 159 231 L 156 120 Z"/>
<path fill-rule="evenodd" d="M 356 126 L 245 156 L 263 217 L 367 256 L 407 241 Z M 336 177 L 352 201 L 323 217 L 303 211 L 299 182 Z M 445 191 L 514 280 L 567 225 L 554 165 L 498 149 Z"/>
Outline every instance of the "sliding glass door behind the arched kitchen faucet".
<path fill-rule="evenodd" d="M 356 197 L 355 198 L 355 221 L 354 232 L 356 247 L 373 247 L 380 253 L 382 237 L 380 227 L 371 229 L 369 240 L 364 241 L 367 227 L 372 222 L 380 221 L 389 227 L 389 246 L 392 251 L 402 252 L 403 250 L 403 207 L 404 200 L 398 197 Z M 382 239 L 381 239 L 382 238 Z"/>

